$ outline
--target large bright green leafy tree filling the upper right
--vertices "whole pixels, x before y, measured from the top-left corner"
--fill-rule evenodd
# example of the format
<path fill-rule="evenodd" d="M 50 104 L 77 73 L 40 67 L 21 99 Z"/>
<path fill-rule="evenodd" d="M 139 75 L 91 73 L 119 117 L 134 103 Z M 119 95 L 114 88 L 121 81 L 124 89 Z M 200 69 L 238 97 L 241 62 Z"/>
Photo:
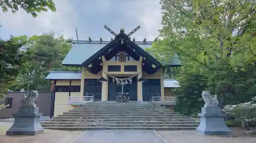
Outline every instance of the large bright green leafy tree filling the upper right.
<path fill-rule="evenodd" d="M 163 40 L 152 51 L 162 58 L 177 53 L 190 75 L 207 77 L 205 90 L 217 94 L 221 106 L 248 102 L 256 94 L 254 2 L 162 0 L 161 4 Z M 177 78 L 189 80 L 185 74 Z"/>

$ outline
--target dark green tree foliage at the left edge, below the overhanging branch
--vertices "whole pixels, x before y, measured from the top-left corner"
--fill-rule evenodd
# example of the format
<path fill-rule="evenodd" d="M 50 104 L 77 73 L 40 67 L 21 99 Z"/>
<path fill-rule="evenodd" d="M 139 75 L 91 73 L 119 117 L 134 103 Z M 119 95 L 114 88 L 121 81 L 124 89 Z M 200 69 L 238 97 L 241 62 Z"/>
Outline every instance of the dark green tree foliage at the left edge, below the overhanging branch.
<path fill-rule="evenodd" d="M 23 64 L 24 53 L 20 48 L 26 43 L 26 36 L 0 40 L 0 98 L 15 81 Z"/>

